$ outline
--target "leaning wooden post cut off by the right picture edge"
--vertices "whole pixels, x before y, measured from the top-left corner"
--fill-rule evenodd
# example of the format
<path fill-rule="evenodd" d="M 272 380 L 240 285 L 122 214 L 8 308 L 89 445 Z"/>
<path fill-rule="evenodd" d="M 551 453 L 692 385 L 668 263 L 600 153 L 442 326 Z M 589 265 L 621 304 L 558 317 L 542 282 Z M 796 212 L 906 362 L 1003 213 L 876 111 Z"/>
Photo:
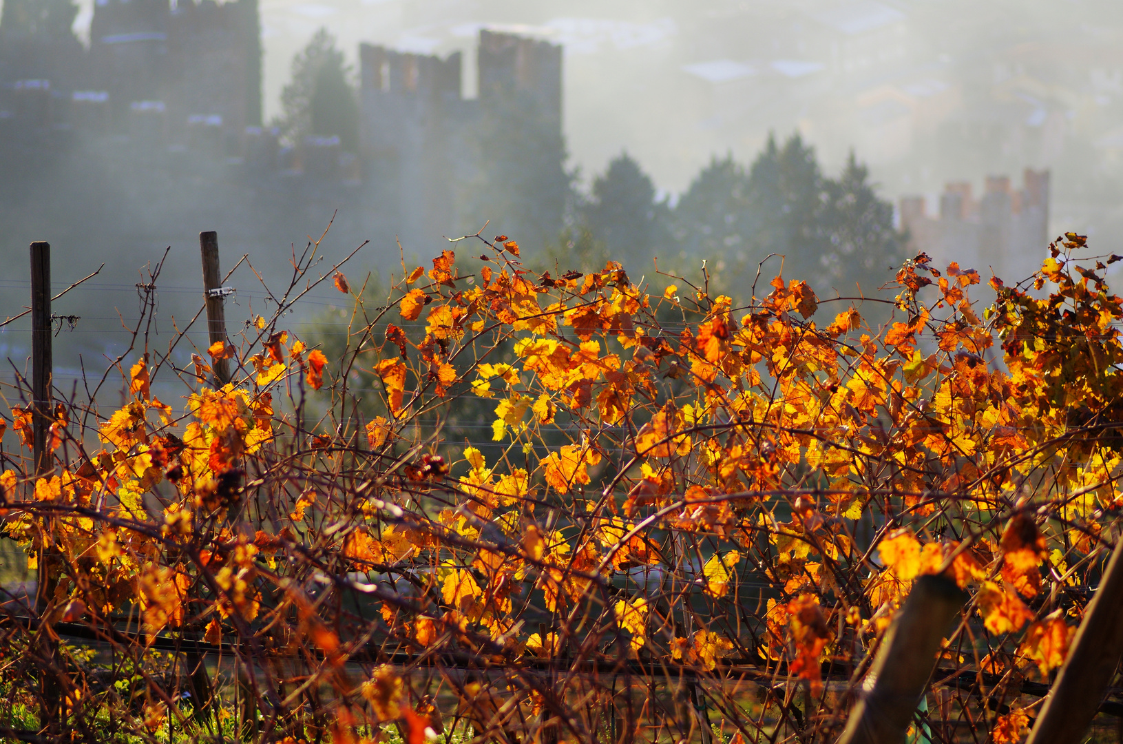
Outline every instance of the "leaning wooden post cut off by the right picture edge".
<path fill-rule="evenodd" d="M 1080 623 L 1026 744 L 1083 742 L 1123 656 L 1123 537 Z"/>

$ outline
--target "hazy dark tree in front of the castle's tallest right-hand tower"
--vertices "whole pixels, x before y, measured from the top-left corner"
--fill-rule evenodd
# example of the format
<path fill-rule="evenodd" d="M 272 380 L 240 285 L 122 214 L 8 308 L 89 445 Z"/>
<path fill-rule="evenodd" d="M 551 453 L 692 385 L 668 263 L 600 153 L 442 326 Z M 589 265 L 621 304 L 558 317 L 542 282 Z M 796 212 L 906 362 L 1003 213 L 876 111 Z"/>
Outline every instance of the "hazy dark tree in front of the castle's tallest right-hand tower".
<path fill-rule="evenodd" d="M 491 220 L 491 233 L 542 251 L 562 232 L 573 202 L 565 140 L 532 96 L 512 93 L 490 103 L 480 126 L 482 167 L 469 215 L 480 224 Z"/>

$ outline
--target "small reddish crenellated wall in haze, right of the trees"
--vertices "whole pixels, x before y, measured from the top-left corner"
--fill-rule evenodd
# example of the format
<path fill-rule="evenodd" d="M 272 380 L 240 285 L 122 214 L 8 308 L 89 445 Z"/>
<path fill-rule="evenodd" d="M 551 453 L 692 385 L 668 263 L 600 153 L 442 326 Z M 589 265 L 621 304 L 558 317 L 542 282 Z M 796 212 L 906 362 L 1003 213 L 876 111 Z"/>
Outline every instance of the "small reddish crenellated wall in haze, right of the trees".
<path fill-rule="evenodd" d="M 990 269 L 1008 283 L 1021 281 L 1048 255 L 1049 171 L 1026 169 L 1017 190 L 1008 176 L 987 176 L 979 199 L 970 183 L 948 183 L 938 215 L 926 214 L 924 197 L 905 197 L 901 226 L 913 254 L 923 251 L 937 264 L 958 261 Z"/>

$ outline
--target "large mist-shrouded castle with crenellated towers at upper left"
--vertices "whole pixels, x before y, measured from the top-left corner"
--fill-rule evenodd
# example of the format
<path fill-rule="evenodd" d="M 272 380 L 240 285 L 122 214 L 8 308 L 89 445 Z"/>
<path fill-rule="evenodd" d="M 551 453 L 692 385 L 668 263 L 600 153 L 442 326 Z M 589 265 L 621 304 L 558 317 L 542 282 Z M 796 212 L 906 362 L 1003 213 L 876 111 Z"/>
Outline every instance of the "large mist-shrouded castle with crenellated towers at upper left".
<path fill-rule="evenodd" d="M 207 201 L 216 191 L 204 184 L 221 182 L 223 210 L 245 210 L 253 193 L 289 219 L 334 205 L 391 235 L 435 238 L 476 219 L 465 193 L 501 101 L 562 133 L 562 48 L 518 36 L 481 31 L 474 99 L 462 93 L 459 53 L 362 45 L 359 152 L 345 153 L 338 138 L 282 142 L 263 127 L 258 0 L 95 0 L 88 49 L 69 29 L 60 40 L 13 33 L 16 22 L 0 18 L 0 165 L 65 151 L 170 209 Z M 173 193 L 188 172 L 201 189 L 191 198 Z"/>

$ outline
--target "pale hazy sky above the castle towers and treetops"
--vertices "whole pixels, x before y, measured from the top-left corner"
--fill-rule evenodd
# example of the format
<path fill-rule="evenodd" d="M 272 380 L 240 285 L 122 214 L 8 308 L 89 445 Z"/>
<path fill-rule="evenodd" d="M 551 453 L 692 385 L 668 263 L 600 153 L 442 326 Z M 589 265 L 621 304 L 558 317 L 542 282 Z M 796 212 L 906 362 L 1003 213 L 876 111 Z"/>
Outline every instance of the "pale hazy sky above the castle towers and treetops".
<path fill-rule="evenodd" d="M 77 25 L 88 25 L 94 0 L 80 2 Z M 321 26 L 351 61 L 363 42 L 441 56 L 459 49 L 469 96 L 478 29 L 506 29 L 564 45 L 565 135 L 570 165 L 586 182 L 627 148 L 670 192 L 685 189 L 714 154 L 750 161 L 769 130 L 798 130 L 829 171 L 855 148 L 887 194 L 934 193 L 946 178 L 980 180 L 989 167 L 958 145 L 962 158 L 953 163 L 921 147 L 929 136 L 925 120 L 947 118 L 949 110 L 967 119 L 977 115 L 968 97 L 980 83 L 994 85 L 985 91 L 986 106 L 1024 107 L 1024 115 L 1007 114 L 1023 117 L 1034 136 L 1052 127 L 1056 137 L 1081 129 L 1089 139 L 1102 137 L 1115 107 L 1123 106 L 1116 103 L 1123 101 L 1123 80 L 1120 94 L 1112 88 L 1113 75 L 1123 74 L 1123 56 L 1106 60 L 1096 52 L 1083 60 L 1085 45 L 1071 43 L 1090 39 L 1108 54 L 1120 48 L 1123 3 L 1116 0 L 259 2 L 267 118 L 279 111 L 293 54 Z M 900 28 L 902 35 L 883 42 L 878 28 Z M 839 45 L 844 56 L 848 40 L 875 56 L 894 44 L 902 49 L 841 74 Z M 1031 69 L 1034 60 L 1044 72 Z M 1006 79 L 1021 82 L 1010 88 Z M 950 109 L 925 108 L 941 96 Z M 892 117 L 901 106 L 910 107 L 913 131 L 898 146 Z M 894 147 L 909 155 L 894 155 Z M 1060 151 L 1053 151 L 1015 153 L 1001 167 L 1016 173 L 1026 165 L 1056 166 Z"/>

